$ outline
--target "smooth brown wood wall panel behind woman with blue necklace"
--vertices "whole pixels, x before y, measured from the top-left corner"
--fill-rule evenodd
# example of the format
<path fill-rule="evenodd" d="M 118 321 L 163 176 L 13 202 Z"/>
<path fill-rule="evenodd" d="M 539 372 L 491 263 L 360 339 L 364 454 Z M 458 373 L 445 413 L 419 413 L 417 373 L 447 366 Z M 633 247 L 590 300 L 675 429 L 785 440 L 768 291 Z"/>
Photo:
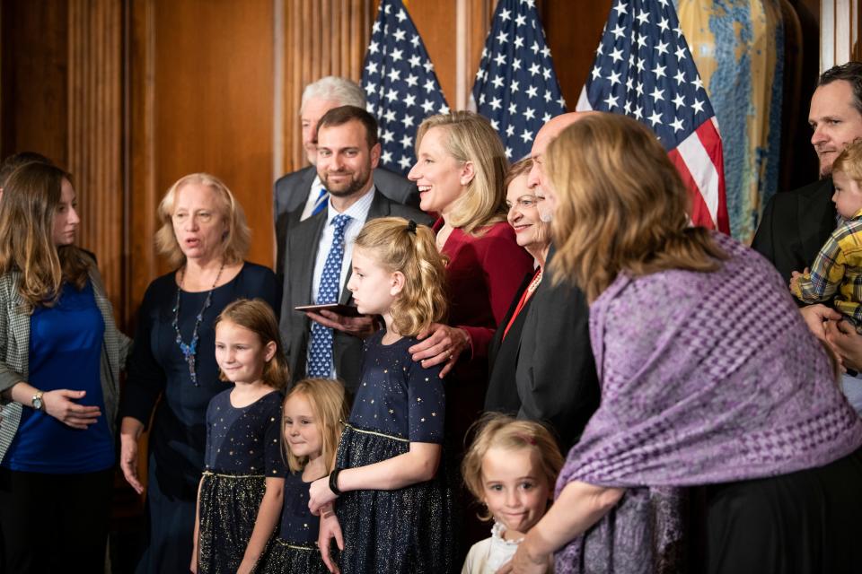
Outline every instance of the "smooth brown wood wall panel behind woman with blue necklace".
<path fill-rule="evenodd" d="M 174 181 L 224 180 L 252 228 L 248 258 L 272 263 L 274 4 L 129 0 L 131 299 L 167 266 L 155 210 Z M 129 309 L 130 310 L 130 309 Z"/>

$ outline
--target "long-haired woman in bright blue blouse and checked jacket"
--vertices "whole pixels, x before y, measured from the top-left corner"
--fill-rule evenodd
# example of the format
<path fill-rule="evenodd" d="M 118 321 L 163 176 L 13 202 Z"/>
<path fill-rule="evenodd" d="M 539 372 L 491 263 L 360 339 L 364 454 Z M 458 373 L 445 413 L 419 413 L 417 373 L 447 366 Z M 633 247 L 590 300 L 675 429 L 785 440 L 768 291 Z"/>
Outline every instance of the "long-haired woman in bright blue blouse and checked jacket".
<path fill-rule="evenodd" d="M 0 203 L 0 571 L 104 570 L 117 330 L 63 170 L 13 171 Z"/>

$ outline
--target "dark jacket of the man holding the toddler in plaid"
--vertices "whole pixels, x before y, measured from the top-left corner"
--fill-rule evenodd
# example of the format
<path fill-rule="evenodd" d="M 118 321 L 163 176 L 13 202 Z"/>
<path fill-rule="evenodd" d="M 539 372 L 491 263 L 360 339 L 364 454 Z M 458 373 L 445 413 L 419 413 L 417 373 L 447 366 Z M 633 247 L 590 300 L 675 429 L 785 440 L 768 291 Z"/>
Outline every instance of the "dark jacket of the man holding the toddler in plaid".
<path fill-rule="evenodd" d="M 793 271 L 814 263 L 814 257 L 838 224 L 832 179 L 772 196 L 763 210 L 752 248 L 778 269 L 785 283 Z"/>

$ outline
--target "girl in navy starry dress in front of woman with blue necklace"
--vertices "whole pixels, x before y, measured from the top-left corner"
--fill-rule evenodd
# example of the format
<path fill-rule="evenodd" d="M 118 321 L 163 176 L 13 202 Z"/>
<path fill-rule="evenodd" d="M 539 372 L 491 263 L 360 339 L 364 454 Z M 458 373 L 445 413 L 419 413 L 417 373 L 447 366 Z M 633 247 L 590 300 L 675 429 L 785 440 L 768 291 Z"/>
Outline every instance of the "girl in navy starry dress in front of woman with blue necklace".
<path fill-rule="evenodd" d="M 280 341 L 263 300 L 236 300 L 216 319 L 216 361 L 234 386 L 207 408 L 192 572 L 251 572 L 276 530 L 285 485 Z"/>

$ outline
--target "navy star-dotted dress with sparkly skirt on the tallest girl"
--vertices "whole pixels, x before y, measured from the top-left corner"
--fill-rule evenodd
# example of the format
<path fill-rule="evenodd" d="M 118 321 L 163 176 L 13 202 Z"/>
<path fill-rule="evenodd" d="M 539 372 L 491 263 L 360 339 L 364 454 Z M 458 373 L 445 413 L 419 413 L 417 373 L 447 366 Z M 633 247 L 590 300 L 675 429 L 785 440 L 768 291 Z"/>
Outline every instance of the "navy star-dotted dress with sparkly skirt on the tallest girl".
<path fill-rule="evenodd" d="M 339 468 L 372 465 L 408 452 L 410 442 L 443 443 L 445 398 L 439 368 L 423 369 L 407 350 L 415 338 L 365 343 L 362 382 L 339 443 Z M 341 571 L 447 574 L 455 571 L 453 495 L 444 465 L 426 483 L 397 491 L 347 491 L 336 502 L 344 534 Z"/>

